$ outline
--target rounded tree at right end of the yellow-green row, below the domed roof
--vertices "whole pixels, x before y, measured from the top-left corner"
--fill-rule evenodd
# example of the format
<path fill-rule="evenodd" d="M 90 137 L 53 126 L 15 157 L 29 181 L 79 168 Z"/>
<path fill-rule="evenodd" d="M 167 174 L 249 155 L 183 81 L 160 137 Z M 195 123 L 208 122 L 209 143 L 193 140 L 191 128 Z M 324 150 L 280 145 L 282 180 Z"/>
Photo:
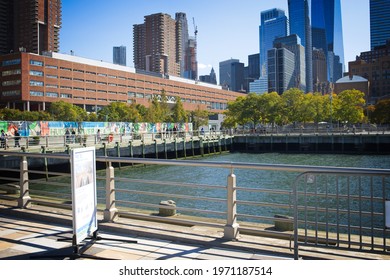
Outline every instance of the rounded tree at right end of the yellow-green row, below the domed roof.
<path fill-rule="evenodd" d="M 352 89 L 344 90 L 337 96 L 338 106 L 335 108 L 336 119 L 348 123 L 359 123 L 364 119 L 363 108 L 366 104 L 364 93 Z"/>

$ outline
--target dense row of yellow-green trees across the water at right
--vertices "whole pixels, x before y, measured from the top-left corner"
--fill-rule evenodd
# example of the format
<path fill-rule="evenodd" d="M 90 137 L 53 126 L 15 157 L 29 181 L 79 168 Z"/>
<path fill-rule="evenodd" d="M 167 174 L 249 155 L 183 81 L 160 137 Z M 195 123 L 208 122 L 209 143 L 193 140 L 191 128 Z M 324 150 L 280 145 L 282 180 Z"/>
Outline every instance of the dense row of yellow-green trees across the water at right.
<path fill-rule="evenodd" d="M 248 94 L 228 104 L 224 127 L 251 124 L 284 125 L 294 122 L 389 123 L 390 101 L 366 106 L 364 93 L 346 90 L 340 94 L 305 94 L 292 88 L 282 95 L 276 92 Z"/>

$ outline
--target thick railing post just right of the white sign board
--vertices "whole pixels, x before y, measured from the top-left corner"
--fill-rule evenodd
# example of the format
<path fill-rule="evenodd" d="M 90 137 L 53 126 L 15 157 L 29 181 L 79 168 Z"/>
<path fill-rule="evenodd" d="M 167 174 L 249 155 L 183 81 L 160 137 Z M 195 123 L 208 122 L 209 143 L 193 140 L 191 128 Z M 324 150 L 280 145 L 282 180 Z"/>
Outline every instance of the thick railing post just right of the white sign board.
<path fill-rule="evenodd" d="M 115 222 L 118 219 L 118 209 L 115 207 L 115 180 L 114 167 L 111 162 L 106 168 L 106 209 L 104 210 L 104 221 Z"/>

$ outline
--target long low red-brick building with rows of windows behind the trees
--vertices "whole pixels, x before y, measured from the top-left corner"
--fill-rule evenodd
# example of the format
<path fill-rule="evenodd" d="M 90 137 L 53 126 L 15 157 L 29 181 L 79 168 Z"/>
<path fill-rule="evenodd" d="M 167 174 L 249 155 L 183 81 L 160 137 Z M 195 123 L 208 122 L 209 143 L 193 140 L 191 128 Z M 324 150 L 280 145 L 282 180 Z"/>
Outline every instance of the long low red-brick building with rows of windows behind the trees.
<path fill-rule="evenodd" d="M 141 71 L 142 72 L 142 71 Z M 164 90 L 168 103 L 180 97 L 184 109 L 222 113 L 242 94 L 175 76 L 59 53 L 13 53 L 0 56 L 0 107 L 45 110 L 65 101 L 96 112 L 110 102 L 149 106 Z"/>

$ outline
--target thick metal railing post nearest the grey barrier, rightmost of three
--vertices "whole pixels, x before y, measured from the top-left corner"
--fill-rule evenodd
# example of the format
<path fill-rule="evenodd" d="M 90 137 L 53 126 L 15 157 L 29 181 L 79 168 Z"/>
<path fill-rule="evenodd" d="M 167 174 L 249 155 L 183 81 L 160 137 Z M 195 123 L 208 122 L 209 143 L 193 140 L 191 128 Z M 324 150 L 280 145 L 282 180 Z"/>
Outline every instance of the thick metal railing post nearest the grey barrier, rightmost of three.
<path fill-rule="evenodd" d="M 238 239 L 238 229 L 236 175 L 232 170 L 227 180 L 227 224 L 224 229 L 224 239 Z"/>

